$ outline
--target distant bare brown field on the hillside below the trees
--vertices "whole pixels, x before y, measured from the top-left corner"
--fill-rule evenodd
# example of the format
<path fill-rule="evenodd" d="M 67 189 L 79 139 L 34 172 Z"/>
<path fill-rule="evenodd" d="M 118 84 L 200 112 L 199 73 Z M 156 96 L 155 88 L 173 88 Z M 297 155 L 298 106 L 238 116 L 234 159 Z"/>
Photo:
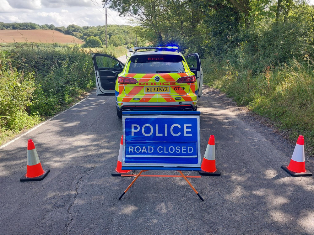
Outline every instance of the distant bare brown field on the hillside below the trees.
<path fill-rule="evenodd" d="M 56 30 L 45 29 L 0 30 L 0 43 L 1 42 L 84 43 L 81 39 L 71 35 L 62 34 Z"/>

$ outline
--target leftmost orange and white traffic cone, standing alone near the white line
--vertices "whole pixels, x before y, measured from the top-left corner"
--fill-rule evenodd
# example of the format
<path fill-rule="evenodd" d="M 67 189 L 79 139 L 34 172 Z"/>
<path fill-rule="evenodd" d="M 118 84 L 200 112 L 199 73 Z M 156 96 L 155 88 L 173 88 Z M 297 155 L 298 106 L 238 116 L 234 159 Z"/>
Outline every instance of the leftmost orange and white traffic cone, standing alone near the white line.
<path fill-rule="evenodd" d="M 20 181 L 39 181 L 46 177 L 50 170 L 43 170 L 37 151 L 32 139 L 27 143 L 27 166 L 26 174 L 20 178 Z"/>

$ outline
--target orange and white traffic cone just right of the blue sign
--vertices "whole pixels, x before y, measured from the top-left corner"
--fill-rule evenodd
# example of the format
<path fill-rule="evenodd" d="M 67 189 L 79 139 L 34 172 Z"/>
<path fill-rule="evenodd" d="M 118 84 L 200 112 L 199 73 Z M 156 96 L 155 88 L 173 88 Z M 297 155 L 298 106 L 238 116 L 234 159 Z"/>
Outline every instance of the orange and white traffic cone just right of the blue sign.
<path fill-rule="evenodd" d="M 220 176 L 220 171 L 216 168 L 215 159 L 215 136 L 211 135 L 205 150 L 203 162 L 201 165 L 200 175 Z"/>

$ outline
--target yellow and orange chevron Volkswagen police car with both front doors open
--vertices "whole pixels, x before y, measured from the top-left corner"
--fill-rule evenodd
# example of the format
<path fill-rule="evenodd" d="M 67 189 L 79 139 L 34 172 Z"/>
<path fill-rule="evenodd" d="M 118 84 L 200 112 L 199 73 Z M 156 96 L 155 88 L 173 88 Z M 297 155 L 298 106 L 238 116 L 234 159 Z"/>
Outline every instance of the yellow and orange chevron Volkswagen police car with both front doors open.
<path fill-rule="evenodd" d="M 93 53 L 97 96 L 116 96 L 116 112 L 196 111 L 203 71 L 197 53 L 184 56 L 178 47 L 134 47 L 126 64 Z"/>

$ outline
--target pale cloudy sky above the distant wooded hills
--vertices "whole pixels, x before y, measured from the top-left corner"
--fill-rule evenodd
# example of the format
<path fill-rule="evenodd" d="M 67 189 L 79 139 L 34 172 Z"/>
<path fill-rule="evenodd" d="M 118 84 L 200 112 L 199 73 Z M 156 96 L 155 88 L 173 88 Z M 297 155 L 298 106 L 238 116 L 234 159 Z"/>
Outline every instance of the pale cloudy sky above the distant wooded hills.
<path fill-rule="evenodd" d="M 0 0 L 0 21 L 65 26 L 106 23 L 101 0 Z M 107 8 L 107 24 L 128 24 L 127 18 Z"/>

